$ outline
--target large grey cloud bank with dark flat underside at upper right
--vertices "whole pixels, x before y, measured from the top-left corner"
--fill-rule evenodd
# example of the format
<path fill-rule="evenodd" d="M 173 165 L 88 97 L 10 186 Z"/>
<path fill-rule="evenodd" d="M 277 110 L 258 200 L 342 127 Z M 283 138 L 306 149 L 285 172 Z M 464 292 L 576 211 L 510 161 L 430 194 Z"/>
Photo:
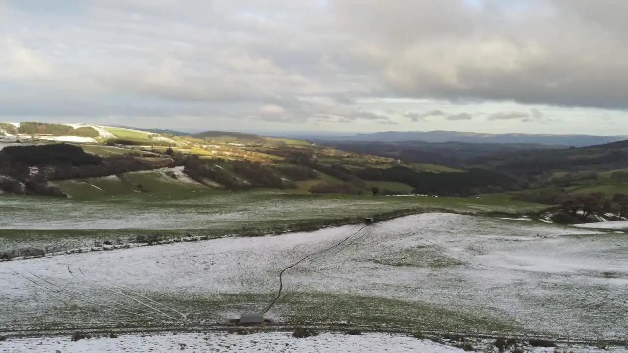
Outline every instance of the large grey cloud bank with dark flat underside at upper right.
<path fill-rule="evenodd" d="M 398 95 L 628 108 L 624 1 L 335 3 L 356 61 Z"/>

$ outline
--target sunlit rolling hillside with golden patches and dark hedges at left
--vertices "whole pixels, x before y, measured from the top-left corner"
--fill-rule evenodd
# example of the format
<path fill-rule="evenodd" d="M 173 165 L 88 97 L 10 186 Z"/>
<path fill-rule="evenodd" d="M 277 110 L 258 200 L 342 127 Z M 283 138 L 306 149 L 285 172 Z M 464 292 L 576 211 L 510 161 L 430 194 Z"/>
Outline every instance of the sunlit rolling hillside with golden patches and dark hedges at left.
<path fill-rule="evenodd" d="M 13 129 L 9 129 L 9 125 Z M 368 175 L 365 171 L 369 168 L 387 170 L 398 166 L 398 160 L 318 146 L 298 139 L 224 131 L 175 136 L 163 131 L 83 124 L 28 122 L 9 125 L 5 126 L 4 134 L 23 143 L 18 146 L 6 144 L 4 146 L 9 148 L 0 153 L 0 162 L 5 166 L 0 189 L 11 193 L 73 198 L 156 193 L 161 187 L 153 185 L 148 175 L 129 173 L 173 167 L 181 167 L 181 172 L 197 184 L 195 187 L 232 191 L 276 188 L 295 193 L 359 195 L 406 194 L 414 189 L 413 185 L 403 181 L 360 178 L 360 174 Z M 91 129 L 94 137 L 72 135 L 82 128 Z M 74 147 L 58 144 L 63 142 Z M 90 155 L 99 159 L 89 158 Z M 72 168 L 67 168 L 68 163 Z M 463 172 L 434 163 L 414 163 L 407 168 L 416 173 Z M 37 172 L 33 172 L 35 170 Z M 114 175 L 119 176 L 119 185 L 97 180 Z M 142 178 L 146 180 L 142 182 Z"/>

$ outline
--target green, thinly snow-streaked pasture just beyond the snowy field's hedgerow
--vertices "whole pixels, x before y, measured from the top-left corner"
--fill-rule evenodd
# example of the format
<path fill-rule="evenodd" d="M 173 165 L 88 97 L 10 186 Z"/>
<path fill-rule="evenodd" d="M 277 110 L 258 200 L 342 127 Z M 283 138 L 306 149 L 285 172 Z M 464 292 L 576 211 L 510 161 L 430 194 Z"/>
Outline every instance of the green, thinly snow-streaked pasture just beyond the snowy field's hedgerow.
<path fill-rule="evenodd" d="M 151 192 L 139 192 L 140 183 Z M 545 208 L 502 198 L 310 195 L 306 190 L 224 192 L 173 180 L 158 171 L 58 185 L 81 197 L 4 197 L 0 205 L 0 251 L 28 246 L 62 251 L 105 240 L 134 242 L 143 235 L 172 239 L 259 234 L 304 222 L 316 226 L 404 210 L 517 213 Z"/>

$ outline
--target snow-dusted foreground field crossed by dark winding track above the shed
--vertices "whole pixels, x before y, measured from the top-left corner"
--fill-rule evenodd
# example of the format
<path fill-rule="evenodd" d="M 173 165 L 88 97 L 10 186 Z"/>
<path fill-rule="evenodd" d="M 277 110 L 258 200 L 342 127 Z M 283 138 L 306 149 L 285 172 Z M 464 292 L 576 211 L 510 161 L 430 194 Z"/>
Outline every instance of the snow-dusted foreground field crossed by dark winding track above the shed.
<path fill-rule="evenodd" d="M 226 328 L 242 312 L 269 308 L 269 325 L 286 329 L 624 340 L 627 255 L 625 234 L 433 213 L 281 236 L 7 261 L 0 263 L 0 335 Z M 269 307 L 284 269 L 283 291 Z M 0 348 L 14 341 L 7 342 Z M 82 344 L 92 342 L 75 347 Z"/>

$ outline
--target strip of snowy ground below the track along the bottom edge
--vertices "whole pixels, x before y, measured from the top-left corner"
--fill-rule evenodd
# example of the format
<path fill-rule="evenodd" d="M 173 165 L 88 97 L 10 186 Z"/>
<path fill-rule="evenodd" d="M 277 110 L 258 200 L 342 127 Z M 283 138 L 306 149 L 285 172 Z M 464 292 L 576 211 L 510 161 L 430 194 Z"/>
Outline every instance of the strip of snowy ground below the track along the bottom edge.
<path fill-rule="evenodd" d="M 481 352 L 497 352 L 491 349 L 494 340 L 472 340 L 474 348 Z M 31 353 L 89 353 L 89 352 L 128 352 L 162 353 L 185 352 L 264 352 L 264 353 L 453 353 L 464 352 L 450 344 L 431 340 L 414 339 L 403 335 L 365 334 L 344 335 L 323 333 L 317 337 L 297 339 L 286 332 L 265 332 L 250 335 L 235 334 L 161 334 L 161 335 L 122 335 L 70 342 L 68 337 L 45 337 L 38 339 L 14 339 L 0 342 L 0 352 Z M 625 347 L 600 349 L 583 345 L 559 344 L 558 347 L 526 347 L 528 353 L 623 353 Z"/>

